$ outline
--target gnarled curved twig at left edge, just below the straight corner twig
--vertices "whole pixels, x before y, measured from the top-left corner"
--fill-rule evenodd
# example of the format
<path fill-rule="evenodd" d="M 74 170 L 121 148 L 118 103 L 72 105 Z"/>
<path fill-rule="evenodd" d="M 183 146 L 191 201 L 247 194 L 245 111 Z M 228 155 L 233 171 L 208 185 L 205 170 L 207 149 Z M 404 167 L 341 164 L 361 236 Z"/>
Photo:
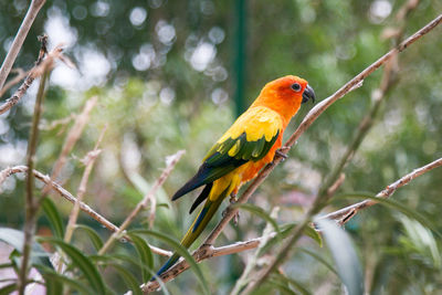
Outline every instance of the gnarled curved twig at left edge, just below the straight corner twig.
<path fill-rule="evenodd" d="M 10 98 L 8 98 L 2 105 L 0 105 L 0 115 L 6 113 L 7 110 L 9 110 L 14 105 L 17 105 L 20 102 L 21 97 L 23 97 L 23 95 L 27 93 L 27 91 L 31 86 L 32 82 L 34 82 L 35 77 L 38 77 L 36 73 L 39 71 L 36 71 L 36 70 L 39 69 L 44 56 L 48 53 L 48 49 L 46 49 L 48 35 L 39 36 L 39 41 L 41 42 L 41 48 L 40 48 L 39 57 L 36 59 L 35 65 L 29 71 L 27 78 L 23 81 L 23 84 L 21 84 L 21 86 L 15 91 L 15 93 Z M 1 89 L 1 93 L 3 94 L 6 89 L 7 89 L 7 86 L 4 86 Z"/>

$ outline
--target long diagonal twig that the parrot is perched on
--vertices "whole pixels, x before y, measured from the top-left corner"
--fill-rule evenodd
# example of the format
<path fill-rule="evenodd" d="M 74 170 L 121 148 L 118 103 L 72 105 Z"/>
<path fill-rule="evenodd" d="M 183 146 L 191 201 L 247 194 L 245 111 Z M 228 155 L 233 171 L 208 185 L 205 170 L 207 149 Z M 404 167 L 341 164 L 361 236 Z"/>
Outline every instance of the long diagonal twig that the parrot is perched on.
<path fill-rule="evenodd" d="M 377 60 L 375 63 L 369 65 L 367 69 L 365 69 L 361 73 L 356 75 L 354 78 L 351 78 L 349 82 L 347 82 L 343 87 L 340 87 L 335 94 L 332 96 L 327 97 L 319 104 L 317 104 L 308 114 L 305 116 L 298 128 L 292 134 L 290 139 L 285 143 L 284 147 L 282 148 L 284 154 L 287 154 L 288 150 L 292 148 L 292 146 L 296 143 L 296 140 L 299 138 L 299 136 L 317 119 L 317 117 L 324 113 L 333 103 L 335 103 L 337 99 L 341 98 L 344 95 L 349 93 L 352 88 L 355 88 L 355 85 L 359 85 L 367 76 L 369 76 L 372 72 L 375 72 L 377 69 L 379 69 L 382 64 L 385 64 L 387 61 L 389 61 L 396 53 L 402 52 L 406 50 L 408 46 L 413 44 L 417 40 L 429 33 L 431 30 L 433 30 L 436 25 L 439 25 L 442 21 L 442 14 L 436 17 L 434 20 L 432 20 L 430 23 L 424 25 L 422 29 L 420 29 L 418 32 L 415 32 L 413 35 L 408 38 L 406 41 L 400 43 L 397 48 L 390 50 L 387 54 L 381 56 L 379 60 Z M 281 162 L 283 156 L 276 155 L 273 162 L 269 164 L 264 169 L 261 170 L 261 172 L 256 176 L 256 178 L 252 181 L 252 183 L 246 188 L 246 190 L 242 193 L 242 196 L 238 199 L 238 203 L 245 203 L 251 194 L 256 190 L 256 188 L 264 181 L 264 179 L 269 176 L 269 173 Z M 223 218 L 221 221 L 218 223 L 218 225 L 214 228 L 214 230 L 210 233 L 210 235 L 206 239 L 204 243 L 197 250 L 197 254 L 203 253 L 204 251 L 208 251 L 210 249 L 211 244 L 213 244 L 214 240 L 218 238 L 218 235 L 222 232 L 224 226 L 230 222 L 230 220 L 234 217 L 234 214 L 238 212 L 236 207 L 229 206 L 227 210 L 224 211 Z M 292 233 L 294 233 L 295 239 L 301 236 L 302 229 L 304 229 L 305 225 L 308 224 L 309 218 L 312 218 L 314 211 L 309 210 L 306 214 L 306 219 L 298 223 L 298 225 L 294 229 Z M 299 232 L 299 233 L 297 233 Z M 297 236 L 298 235 L 298 236 Z M 297 238 L 296 238 L 297 236 Z M 198 255 L 197 255 L 198 256 Z M 181 261 L 177 263 L 175 266 L 170 267 L 167 272 L 161 274 L 161 281 L 167 282 L 179 275 L 179 273 L 183 272 L 186 267 L 183 267 L 185 261 Z M 159 287 L 158 282 L 149 282 L 143 286 L 143 292 L 148 293 L 151 291 L 155 291 Z"/>

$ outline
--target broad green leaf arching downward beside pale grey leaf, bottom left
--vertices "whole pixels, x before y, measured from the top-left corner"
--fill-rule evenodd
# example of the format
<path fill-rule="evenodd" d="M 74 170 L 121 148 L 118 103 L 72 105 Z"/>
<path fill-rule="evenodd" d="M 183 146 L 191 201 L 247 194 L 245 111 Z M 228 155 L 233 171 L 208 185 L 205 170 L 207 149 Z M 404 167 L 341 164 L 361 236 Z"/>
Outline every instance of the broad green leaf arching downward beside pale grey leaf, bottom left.
<path fill-rule="evenodd" d="M 39 238 L 41 242 L 48 242 L 59 246 L 71 259 L 71 264 L 77 266 L 98 294 L 105 294 L 105 286 L 95 265 L 76 247 L 54 238 Z"/>

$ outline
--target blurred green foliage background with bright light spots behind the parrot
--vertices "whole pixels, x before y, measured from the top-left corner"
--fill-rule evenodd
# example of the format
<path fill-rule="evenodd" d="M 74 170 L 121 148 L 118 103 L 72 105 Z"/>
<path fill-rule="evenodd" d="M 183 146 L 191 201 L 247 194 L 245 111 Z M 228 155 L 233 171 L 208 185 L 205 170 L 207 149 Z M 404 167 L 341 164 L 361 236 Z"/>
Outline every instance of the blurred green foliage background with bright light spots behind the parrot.
<path fill-rule="evenodd" d="M 266 82 L 285 74 L 308 80 L 319 99 L 330 95 L 393 45 L 381 35 L 387 28 L 398 28 L 394 15 L 406 2 L 248 1 L 245 104 L 256 97 Z M 0 60 L 28 4 L 25 0 L 0 0 Z M 159 203 L 167 206 L 158 207 L 154 226 L 179 241 L 191 222 L 192 217 L 187 212 L 196 194 L 177 203 L 170 203 L 169 196 L 194 173 L 207 150 L 234 119 L 231 99 L 235 89 L 234 8 L 232 0 L 46 1 L 15 66 L 29 69 L 33 64 L 39 51 L 36 35 L 46 31 L 52 46 L 66 43 L 66 54 L 78 71 L 67 70 L 63 64 L 54 70 L 44 105 L 45 123 L 78 114 L 86 99 L 99 96 L 90 124 L 63 170 L 64 188 L 76 193 L 84 170 L 80 159 L 93 149 L 98 134 L 108 124 L 103 152 L 88 182 L 86 202 L 119 224 L 166 167 L 167 156 L 186 149 L 187 154 L 157 196 Z M 404 35 L 440 11 L 440 1 L 420 1 L 407 18 Z M 373 128 L 346 167 L 346 180 L 337 193 L 377 193 L 413 168 L 442 157 L 441 40 L 442 30 L 436 28 L 399 55 L 398 82 L 388 93 Z M 299 138 L 290 158 L 261 186 L 252 202 L 265 212 L 274 206 L 282 207 L 278 224 L 299 220 L 368 112 L 381 76 L 380 70 L 362 87 L 328 108 Z M 34 96 L 35 88 L 31 87 L 19 106 L 0 116 L 0 169 L 25 162 Z M 303 105 L 287 135 L 311 107 Z M 42 130 L 36 165 L 40 171 L 50 173 L 71 126 L 72 120 Z M 22 228 L 22 180 L 23 176 L 10 177 L 1 188 L 3 226 Z M 413 180 L 392 198 L 419 212 L 441 232 L 441 183 L 442 170 L 436 169 Z M 52 199 L 65 223 L 71 204 L 59 197 Z M 352 201 L 338 199 L 327 211 Z M 147 214 L 148 211 L 144 212 L 133 228 L 146 229 Z M 39 232 L 45 235 L 54 221 L 43 215 L 44 212 Z M 84 213 L 80 223 L 93 230 L 76 231 L 73 245 L 83 255 L 92 255 L 99 240 L 91 231 L 102 239 L 109 233 Z M 264 224 L 260 217 L 243 211 L 239 225 L 228 226 L 217 244 L 259 236 Z M 376 206 L 360 212 L 347 231 L 370 294 L 433 294 L 442 289 L 441 239 L 409 215 L 406 218 L 394 208 Z M 151 244 L 172 247 L 154 236 L 146 239 Z M 313 240 L 304 239 L 298 244 L 330 263 L 330 253 Z M 115 264 L 115 260 L 136 253 L 129 243 L 122 243 L 109 254 L 110 260 L 101 257 L 101 263 Z M 156 270 L 162 259 L 154 256 Z M 210 289 L 228 293 L 246 259 L 248 254 L 242 253 L 200 264 Z M 118 263 L 141 282 L 143 265 L 128 260 Z M 123 293 L 131 281 L 117 268 L 99 272 L 113 289 Z M 341 292 L 338 276 L 327 264 L 304 251 L 294 254 L 282 270 L 266 287 L 284 294 L 303 293 L 299 289 L 304 288 L 313 294 Z M 124 277 L 126 284 L 122 283 Z M 183 273 L 167 287 L 171 294 L 202 291 L 192 272 Z"/>

